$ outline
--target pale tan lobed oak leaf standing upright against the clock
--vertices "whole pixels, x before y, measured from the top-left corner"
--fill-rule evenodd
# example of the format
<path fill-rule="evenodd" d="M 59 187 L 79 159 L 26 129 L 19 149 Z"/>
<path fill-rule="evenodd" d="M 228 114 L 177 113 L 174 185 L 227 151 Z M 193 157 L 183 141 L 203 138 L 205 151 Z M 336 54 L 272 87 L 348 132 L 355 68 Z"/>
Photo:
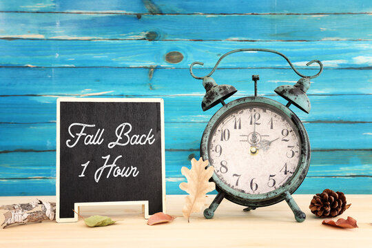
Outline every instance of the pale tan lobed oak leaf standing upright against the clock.
<path fill-rule="evenodd" d="M 214 167 L 209 166 L 207 169 L 208 161 L 203 161 L 200 158 L 198 161 L 192 158 L 192 168 L 182 167 L 181 173 L 186 176 L 187 183 L 180 183 L 180 189 L 189 194 L 186 196 L 185 205 L 183 206 L 183 216 L 189 222 L 191 213 L 196 213 L 202 209 L 205 203 L 205 194 L 216 189 L 213 182 L 209 182 L 209 178 L 213 175 Z"/>

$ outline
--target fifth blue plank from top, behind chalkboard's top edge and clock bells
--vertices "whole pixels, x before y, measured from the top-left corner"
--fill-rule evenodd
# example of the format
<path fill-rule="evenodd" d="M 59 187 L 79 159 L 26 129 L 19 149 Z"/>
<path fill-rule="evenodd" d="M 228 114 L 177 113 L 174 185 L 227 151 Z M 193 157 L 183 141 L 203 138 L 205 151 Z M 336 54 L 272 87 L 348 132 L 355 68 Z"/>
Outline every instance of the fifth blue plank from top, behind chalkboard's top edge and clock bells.
<path fill-rule="evenodd" d="M 273 87 L 275 88 L 275 87 Z M 0 123 L 53 123 L 56 121 L 55 106 L 56 99 L 59 95 L 45 96 L 3 96 L 0 97 Z M 67 95 L 68 96 L 68 95 Z M 99 94 L 99 96 L 90 97 L 123 97 L 125 95 L 118 94 L 114 96 Z M 246 94 L 231 96 L 229 100 L 233 101 Z M 250 95 L 251 96 L 251 95 Z M 263 95 L 282 104 L 287 104 L 287 101 L 275 94 Z M 130 97 L 143 97 L 130 95 Z M 215 107 L 213 110 L 203 112 L 201 110 L 201 102 L 203 96 L 174 96 L 174 95 L 150 95 L 145 97 L 161 97 L 165 101 L 165 122 L 183 122 L 183 123 L 207 123 L 211 116 L 218 110 Z M 366 115 L 366 110 L 369 110 L 372 104 L 372 97 L 369 94 L 355 95 L 316 95 L 310 96 L 311 112 L 306 114 L 296 107 L 291 107 L 303 122 L 305 123 L 372 123 L 371 116 Z M 344 107 L 340 110 L 340 101 L 344 103 Z M 355 109 L 355 105 L 359 107 Z"/>

